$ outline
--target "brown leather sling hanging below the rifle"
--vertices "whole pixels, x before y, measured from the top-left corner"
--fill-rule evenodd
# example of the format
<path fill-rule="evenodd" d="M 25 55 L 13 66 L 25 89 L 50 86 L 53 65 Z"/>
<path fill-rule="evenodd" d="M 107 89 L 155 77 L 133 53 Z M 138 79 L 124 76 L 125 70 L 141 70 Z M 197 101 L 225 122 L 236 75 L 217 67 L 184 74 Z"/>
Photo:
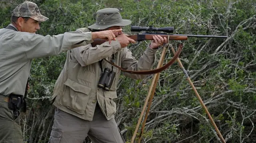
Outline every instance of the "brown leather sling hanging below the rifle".
<path fill-rule="evenodd" d="M 176 52 L 176 54 L 174 55 L 174 57 L 172 57 L 172 59 L 166 63 L 164 66 L 160 67 L 160 68 L 157 68 L 157 69 L 153 69 L 153 70 L 147 70 L 147 71 L 128 71 L 128 70 L 124 70 L 122 69 L 121 67 L 115 65 L 114 63 L 104 59 L 106 62 L 110 63 L 111 65 L 113 65 L 114 67 L 117 67 L 118 69 L 120 69 L 121 71 L 124 71 L 124 72 L 128 72 L 128 73 L 131 73 L 131 74 L 155 74 L 155 73 L 158 73 L 158 72 L 161 72 L 161 71 L 164 71 L 165 69 L 167 69 L 168 67 L 170 67 L 170 65 L 172 65 L 176 59 L 179 57 L 181 51 L 182 51 L 182 47 L 183 47 L 183 44 L 180 44 L 179 48 L 178 48 L 178 51 Z"/>

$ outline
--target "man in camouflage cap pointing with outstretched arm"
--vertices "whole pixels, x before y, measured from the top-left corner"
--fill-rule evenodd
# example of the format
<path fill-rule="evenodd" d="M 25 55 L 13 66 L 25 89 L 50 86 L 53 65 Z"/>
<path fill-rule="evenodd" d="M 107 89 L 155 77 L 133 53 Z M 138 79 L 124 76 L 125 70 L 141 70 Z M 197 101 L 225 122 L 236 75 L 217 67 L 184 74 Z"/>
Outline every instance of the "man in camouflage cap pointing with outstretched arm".
<path fill-rule="evenodd" d="M 29 1 L 12 12 L 11 24 L 0 29 L 0 143 L 22 143 L 20 108 L 26 104 L 25 88 L 32 59 L 58 55 L 93 42 L 95 38 L 115 40 L 115 32 L 66 32 L 38 35 L 39 22 L 48 20 L 38 6 Z M 23 107 L 25 110 L 26 107 Z"/>

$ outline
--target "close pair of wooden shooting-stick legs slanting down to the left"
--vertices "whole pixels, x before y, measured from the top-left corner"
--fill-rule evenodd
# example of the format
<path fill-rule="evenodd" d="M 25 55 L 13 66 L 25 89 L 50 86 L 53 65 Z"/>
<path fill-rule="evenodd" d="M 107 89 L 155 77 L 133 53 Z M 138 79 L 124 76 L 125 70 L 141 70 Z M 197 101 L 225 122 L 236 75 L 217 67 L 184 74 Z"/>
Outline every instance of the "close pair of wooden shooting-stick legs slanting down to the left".
<path fill-rule="evenodd" d="M 169 43 L 169 40 L 168 40 L 168 43 Z M 167 45 L 165 44 L 165 45 L 164 45 L 164 48 L 163 48 L 163 51 L 162 51 L 162 54 L 161 54 L 161 57 L 160 57 L 160 59 L 159 59 L 159 61 L 158 61 L 157 68 L 160 68 L 160 67 L 162 66 L 163 62 L 164 62 L 164 56 L 165 56 L 165 53 L 166 53 L 166 46 L 167 46 Z M 145 126 L 147 117 L 148 117 L 148 112 L 149 112 L 149 109 L 150 109 L 150 106 L 151 106 L 151 102 L 152 102 L 152 98 L 153 98 L 153 96 L 154 96 L 154 92 L 155 92 L 155 90 L 156 90 L 156 84 L 157 84 L 157 82 L 158 82 L 159 76 L 160 76 L 160 72 L 156 73 L 156 74 L 154 75 L 154 78 L 153 78 L 152 82 L 151 82 L 151 86 L 150 86 L 149 91 L 148 91 L 148 96 L 146 97 L 146 101 L 145 101 L 145 103 L 144 103 L 142 112 L 141 112 L 141 114 L 140 114 L 140 118 L 139 118 L 139 120 L 138 120 L 136 129 L 135 129 L 134 134 L 133 134 L 133 136 L 132 136 L 132 141 L 131 141 L 131 143 L 134 142 L 134 139 L 135 139 L 135 137 L 136 137 L 136 133 L 137 133 L 137 131 L 138 131 L 138 128 L 139 128 L 139 126 L 140 126 L 140 122 L 141 122 L 141 120 L 142 120 L 143 114 L 144 114 L 144 112 L 145 112 L 145 109 L 146 109 L 146 106 L 147 106 L 147 103 L 148 103 L 148 98 L 150 97 L 150 101 L 149 101 L 149 103 L 148 103 L 148 109 L 147 109 L 147 112 L 146 112 L 146 115 L 145 115 L 145 118 L 144 118 L 144 121 L 143 121 L 143 125 L 142 125 L 142 128 L 141 128 L 140 136 L 139 136 L 139 143 L 140 143 L 141 135 L 142 135 L 142 133 L 143 133 L 143 129 L 144 129 L 144 126 Z"/>

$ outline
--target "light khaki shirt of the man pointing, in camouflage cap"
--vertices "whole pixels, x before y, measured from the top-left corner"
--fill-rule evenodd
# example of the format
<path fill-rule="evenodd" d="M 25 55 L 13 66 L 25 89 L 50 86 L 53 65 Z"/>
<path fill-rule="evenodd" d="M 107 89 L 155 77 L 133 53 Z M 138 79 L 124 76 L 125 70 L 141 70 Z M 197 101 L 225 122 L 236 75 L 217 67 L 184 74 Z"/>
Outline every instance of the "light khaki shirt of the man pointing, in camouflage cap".
<path fill-rule="evenodd" d="M 15 27 L 10 24 L 10 26 Z M 79 45 L 75 45 L 83 41 Z M 58 55 L 63 51 L 92 43 L 92 34 L 66 32 L 59 35 L 0 29 L 0 94 L 24 95 L 32 59 Z"/>

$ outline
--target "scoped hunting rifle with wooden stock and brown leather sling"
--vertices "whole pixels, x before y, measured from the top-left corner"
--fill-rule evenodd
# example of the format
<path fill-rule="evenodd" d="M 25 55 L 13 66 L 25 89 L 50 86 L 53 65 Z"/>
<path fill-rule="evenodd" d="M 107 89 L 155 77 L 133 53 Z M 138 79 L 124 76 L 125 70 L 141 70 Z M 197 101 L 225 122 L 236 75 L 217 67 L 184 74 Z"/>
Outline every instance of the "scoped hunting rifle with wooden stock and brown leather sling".
<path fill-rule="evenodd" d="M 129 35 L 128 37 L 131 39 L 134 39 L 135 41 L 144 41 L 144 40 L 154 40 L 153 36 L 154 35 L 160 35 L 161 37 L 166 37 L 167 40 L 187 40 L 188 37 L 200 37 L 200 38 L 227 38 L 228 36 L 218 36 L 218 35 L 184 35 L 184 34 L 169 34 L 169 33 L 173 33 L 174 31 L 174 27 L 153 27 L 152 25 L 150 25 L 150 27 L 141 27 L 141 26 L 131 26 L 131 31 L 161 31 L 161 33 L 153 33 L 153 32 L 145 32 L 145 33 L 138 33 L 136 35 Z M 165 33 L 163 33 L 165 32 Z M 96 45 L 100 45 L 102 43 L 106 42 L 105 39 L 94 39 L 94 42 L 91 43 L 92 47 L 96 47 Z M 137 43 L 138 44 L 138 43 Z M 135 44 L 135 45 L 137 45 Z M 158 69 L 154 69 L 154 70 L 148 70 L 148 71 L 128 71 L 128 70 L 124 70 L 121 67 L 115 65 L 114 63 L 104 59 L 106 62 L 110 63 L 111 65 L 113 65 L 114 67 L 117 67 L 118 69 L 120 69 L 121 71 L 124 72 L 128 72 L 128 73 L 132 73 L 132 74 L 155 74 L 158 72 L 161 72 L 165 69 L 167 69 L 168 67 L 170 67 L 170 65 L 172 65 L 174 63 L 174 61 L 178 58 L 178 56 L 180 55 L 181 51 L 182 51 L 182 47 L 183 44 L 180 44 L 178 50 L 176 51 L 176 54 L 174 55 L 174 57 L 172 57 L 172 59 L 166 63 L 166 65 L 158 68 Z"/>

